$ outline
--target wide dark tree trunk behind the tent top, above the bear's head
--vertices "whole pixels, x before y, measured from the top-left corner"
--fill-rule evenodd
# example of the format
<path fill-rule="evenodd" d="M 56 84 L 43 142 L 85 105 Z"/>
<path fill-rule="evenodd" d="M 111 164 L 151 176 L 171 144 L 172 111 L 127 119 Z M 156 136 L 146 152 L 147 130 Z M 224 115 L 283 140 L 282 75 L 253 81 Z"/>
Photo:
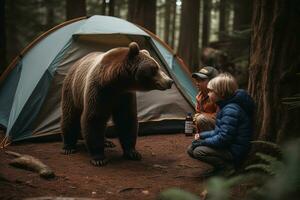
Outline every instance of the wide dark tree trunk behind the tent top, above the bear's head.
<path fill-rule="evenodd" d="M 156 0 L 128 0 L 128 20 L 156 32 Z"/>

